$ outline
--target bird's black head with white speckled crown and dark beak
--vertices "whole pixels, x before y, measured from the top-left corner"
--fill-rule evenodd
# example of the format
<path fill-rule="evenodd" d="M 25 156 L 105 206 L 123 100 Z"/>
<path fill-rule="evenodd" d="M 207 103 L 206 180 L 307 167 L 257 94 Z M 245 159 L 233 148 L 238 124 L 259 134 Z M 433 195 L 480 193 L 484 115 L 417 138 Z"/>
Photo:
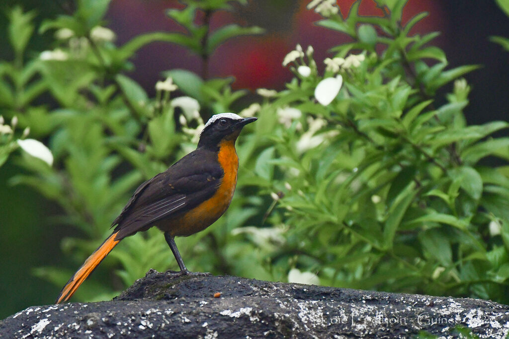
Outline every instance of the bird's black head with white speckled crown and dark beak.
<path fill-rule="evenodd" d="M 200 135 L 198 147 L 216 148 L 222 141 L 235 142 L 242 128 L 257 118 L 243 118 L 235 113 L 213 115 Z"/>

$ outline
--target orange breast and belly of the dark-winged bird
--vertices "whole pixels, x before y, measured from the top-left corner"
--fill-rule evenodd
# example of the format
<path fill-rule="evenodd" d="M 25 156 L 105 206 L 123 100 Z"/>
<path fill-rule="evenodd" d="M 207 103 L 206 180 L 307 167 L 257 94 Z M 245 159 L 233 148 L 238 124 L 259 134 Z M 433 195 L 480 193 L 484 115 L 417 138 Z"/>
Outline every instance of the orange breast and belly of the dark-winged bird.
<path fill-rule="evenodd" d="M 217 160 L 224 171 L 219 188 L 210 199 L 188 211 L 178 220 L 172 221 L 169 230 L 172 235 L 188 236 L 200 232 L 219 219 L 230 206 L 237 185 L 239 168 L 235 140 L 221 142 Z"/>

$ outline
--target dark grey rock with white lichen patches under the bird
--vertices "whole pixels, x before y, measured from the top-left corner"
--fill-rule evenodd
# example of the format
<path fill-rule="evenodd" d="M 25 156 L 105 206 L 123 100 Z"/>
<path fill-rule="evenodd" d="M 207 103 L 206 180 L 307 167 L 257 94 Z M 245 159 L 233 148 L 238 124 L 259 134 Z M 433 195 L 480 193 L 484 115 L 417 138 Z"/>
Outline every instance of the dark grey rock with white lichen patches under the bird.
<path fill-rule="evenodd" d="M 155 270 L 112 301 L 34 306 L 0 321 L 2 338 L 407 338 L 462 330 L 505 337 L 509 306 Z"/>

